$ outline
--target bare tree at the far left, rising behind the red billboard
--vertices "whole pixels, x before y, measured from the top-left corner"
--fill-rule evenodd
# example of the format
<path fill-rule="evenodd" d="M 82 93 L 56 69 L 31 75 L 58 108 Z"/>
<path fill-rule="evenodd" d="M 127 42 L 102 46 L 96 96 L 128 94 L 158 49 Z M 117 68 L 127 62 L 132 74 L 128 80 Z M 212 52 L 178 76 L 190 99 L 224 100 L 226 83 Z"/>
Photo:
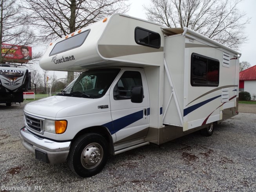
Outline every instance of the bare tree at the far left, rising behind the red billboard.
<path fill-rule="evenodd" d="M 16 45 L 30 45 L 34 43 L 33 30 L 27 25 L 26 19 L 23 18 L 24 9 L 20 7 L 17 0 L 0 1 L 0 62 L 5 62 L 5 56 L 12 51 Z M 12 47 L 2 49 L 2 43 L 12 44 Z M 38 55 L 36 55 L 38 57 Z M 13 62 L 13 60 L 9 60 Z"/>

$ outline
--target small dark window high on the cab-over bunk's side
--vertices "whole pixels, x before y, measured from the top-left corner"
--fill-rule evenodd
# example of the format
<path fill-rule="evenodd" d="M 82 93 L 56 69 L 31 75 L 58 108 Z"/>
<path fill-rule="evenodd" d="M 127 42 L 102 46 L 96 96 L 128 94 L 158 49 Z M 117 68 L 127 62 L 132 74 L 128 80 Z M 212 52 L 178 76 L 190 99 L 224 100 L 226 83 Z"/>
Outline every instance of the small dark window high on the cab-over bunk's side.
<path fill-rule="evenodd" d="M 159 49 L 161 45 L 160 34 L 140 27 L 135 28 L 135 41 L 139 45 L 154 47 L 157 49 Z"/>

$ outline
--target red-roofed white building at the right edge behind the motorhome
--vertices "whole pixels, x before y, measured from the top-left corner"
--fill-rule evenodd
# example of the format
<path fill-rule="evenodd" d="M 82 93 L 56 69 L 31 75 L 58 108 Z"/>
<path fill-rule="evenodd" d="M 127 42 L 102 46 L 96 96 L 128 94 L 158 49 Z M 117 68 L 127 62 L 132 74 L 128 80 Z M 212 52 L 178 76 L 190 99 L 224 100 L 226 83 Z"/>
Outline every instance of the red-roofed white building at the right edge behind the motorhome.
<path fill-rule="evenodd" d="M 239 91 L 249 92 L 253 99 L 256 94 L 256 65 L 239 73 Z"/>

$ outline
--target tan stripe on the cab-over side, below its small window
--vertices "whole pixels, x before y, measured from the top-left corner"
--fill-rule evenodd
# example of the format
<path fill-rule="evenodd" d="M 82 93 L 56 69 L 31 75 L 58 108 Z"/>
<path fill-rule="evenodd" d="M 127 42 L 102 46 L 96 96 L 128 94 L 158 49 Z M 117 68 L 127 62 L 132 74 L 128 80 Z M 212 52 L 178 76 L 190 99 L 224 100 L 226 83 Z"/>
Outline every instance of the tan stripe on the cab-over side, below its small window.
<path fill-rule="evenodd" d="M 163 47 L 156 49 L 142 45 L 98 45 L 98 50 L 105 58 L 115 58 L 134 54 L 163 52 Z"/>

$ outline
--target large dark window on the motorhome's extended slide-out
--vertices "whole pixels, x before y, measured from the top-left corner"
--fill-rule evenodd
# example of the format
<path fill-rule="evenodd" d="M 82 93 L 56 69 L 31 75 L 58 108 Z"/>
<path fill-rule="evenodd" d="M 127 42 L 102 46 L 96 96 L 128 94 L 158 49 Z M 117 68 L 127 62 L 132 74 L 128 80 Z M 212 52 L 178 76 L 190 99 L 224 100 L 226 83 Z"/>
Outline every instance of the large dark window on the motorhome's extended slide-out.
<path fill-rule="evenodd" d="M 200 54 L 191 55 L 191 85 L 218 87 L 220 62 Z"/>

